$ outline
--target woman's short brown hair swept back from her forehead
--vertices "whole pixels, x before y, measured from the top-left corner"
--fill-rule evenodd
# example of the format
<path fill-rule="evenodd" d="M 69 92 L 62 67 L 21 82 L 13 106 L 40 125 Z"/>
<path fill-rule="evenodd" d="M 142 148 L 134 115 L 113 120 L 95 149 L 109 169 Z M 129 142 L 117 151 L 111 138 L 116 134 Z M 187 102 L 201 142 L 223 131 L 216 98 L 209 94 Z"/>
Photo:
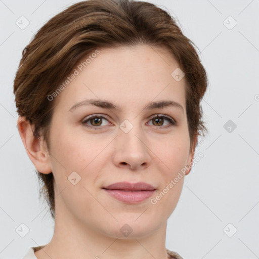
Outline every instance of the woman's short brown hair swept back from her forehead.
<path fill-rule="evenodd" d="M 207 88 L 206 71 L 195 45 L 167 11 L 134 0 L 74 4 L 42 26 L 25 47 L 14 80 L 14 94 L 18 114 L 34 125 L 34 137 L 42 136 L 49 147 L 55 102 L 47 97 L 80 59 L 96 49 L 140 44 L 166 47 L 185 73 L 188 129 L 194 150 L 195 138 L 207 132 L 200 105 Z M 44 193 L 55 219 L 53 173 L 36 172 L 43 183 L 40 193 Z"/>

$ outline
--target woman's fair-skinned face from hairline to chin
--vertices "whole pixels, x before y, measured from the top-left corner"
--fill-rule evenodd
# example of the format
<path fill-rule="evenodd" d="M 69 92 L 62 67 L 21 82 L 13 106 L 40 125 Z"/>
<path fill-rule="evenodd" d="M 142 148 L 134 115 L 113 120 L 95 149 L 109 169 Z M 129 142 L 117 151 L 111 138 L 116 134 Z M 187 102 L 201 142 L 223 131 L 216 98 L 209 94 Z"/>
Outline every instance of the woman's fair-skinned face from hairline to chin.
<path fill-rule="evenodd" d="M 175 209 L 184 182 L 179 172 L 192 160 L 185 78 L 171 76 L 179 65 L 164 48 L 100 49 L 95 56 L 76 67 L 79 73 L 55 99 L 49 163 L 56 219 L 110 237 L 126 238 L 124 229 L 144 237 Z M 153 188 L 104 189 L 118 182 Z"/>

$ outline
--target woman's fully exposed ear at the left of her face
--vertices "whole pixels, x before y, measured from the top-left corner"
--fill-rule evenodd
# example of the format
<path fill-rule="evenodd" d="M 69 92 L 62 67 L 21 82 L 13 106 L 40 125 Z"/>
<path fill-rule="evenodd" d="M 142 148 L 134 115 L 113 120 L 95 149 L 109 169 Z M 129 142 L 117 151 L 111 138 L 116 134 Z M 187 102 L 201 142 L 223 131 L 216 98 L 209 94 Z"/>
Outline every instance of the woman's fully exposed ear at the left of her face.
<path fill-rule="evenodd" d="M 17 120 L 17 128 L 26 152 L 35 168 L 39 172 L 42 172 L 42 174 L 50 174 L 50 172 L 52 172 L 52 168 L 47 145 L 42 141 L 42 138 L 37 140 L 33 136 L 34 125 L 30 124 L 25 117 L 19 116 Z"/>

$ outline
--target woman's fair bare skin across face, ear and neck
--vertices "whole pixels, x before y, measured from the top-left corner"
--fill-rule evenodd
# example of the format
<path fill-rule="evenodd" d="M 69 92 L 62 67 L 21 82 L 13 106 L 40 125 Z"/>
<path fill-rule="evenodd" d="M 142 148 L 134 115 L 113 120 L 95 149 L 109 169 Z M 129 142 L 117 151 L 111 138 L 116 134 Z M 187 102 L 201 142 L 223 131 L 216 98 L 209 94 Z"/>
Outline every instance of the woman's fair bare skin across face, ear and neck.
<path fill-rule="evenodd" d="M 44 174 L 53 172 L 55 178 L 54 235 L 35 252 L 37 258 L 168 258 L 166 224 L 180 198 L 184 177 L 155 205 L 150 200 L 194 155 L 185 77 L 176 81 L 171 76 L 178 67 L 163 47 L 100 49 L 97 58 L 54 100 L 49 152 L 44 140 L 33 138 L 33 127 L 18 118 L 20 136 L 35 168 Z M 105 99 L 122 110 L 84 105 L 69 111 L 85 99 Z M 143 110 L 149 102 L 162 100 L 178 102 L 183 110 L 170 106 Z M 85 122 L 93 127 L 88 128 L 82 121 L 93 114 L 105 118 Z M 157 114 L 170 116 L 178 124 L 166 128 L 170 125 L 166 119 L 152 119 Z M 133 125 L 128 133 L 119 127 L 125 119 Z M 68 181 L 73 171 L 81 177 L 76 185 Z M 102 189 L 122 181 L 146 182 L 156 191 L 138 204 L 127 204 Z M 124 224 L 133 230 L 127 237 L 120 232 Z"/>

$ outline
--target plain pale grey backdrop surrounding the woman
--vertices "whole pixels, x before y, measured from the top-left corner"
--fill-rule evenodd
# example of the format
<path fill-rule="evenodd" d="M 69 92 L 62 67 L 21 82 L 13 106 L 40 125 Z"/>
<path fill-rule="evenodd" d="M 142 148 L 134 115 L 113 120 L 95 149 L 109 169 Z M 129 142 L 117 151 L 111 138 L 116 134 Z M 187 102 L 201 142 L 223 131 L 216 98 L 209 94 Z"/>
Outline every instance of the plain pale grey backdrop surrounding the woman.
<path fill-rule="evenodd" d="M 22 258 L 28 247 L 47 244 L 53 235 L 16 127 L 13 80 L 33 34 L 76 2 L 0 1 L 0 258 Z M 168 220 L 166 247 L 186 259 L 259 258 L 259 0 L 148 2 L 179 21 L 209 78 L 202 101 L 209 134 L 196 149 L 204 157 L 186 177 Z M 29 21 L 23 30 L 16 25 L 21 16 Z M 229 120 L 236 124 L 231 132 Z M 25 237 L 16 232 L 22 223 L 29 228 Z"/>

